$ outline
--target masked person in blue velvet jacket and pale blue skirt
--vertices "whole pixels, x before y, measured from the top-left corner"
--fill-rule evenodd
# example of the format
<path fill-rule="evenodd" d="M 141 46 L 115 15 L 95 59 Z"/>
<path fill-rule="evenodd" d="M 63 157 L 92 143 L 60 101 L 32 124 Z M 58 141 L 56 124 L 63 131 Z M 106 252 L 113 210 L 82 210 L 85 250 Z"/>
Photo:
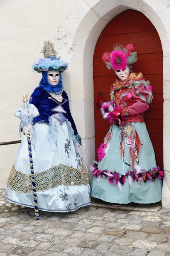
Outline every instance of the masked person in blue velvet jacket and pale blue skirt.
<path fill-rule="evenodd" d="M 20 131 L 25 135 L 7 181 L 6 194 L 15 204 L 34 208 L 26 137 L 31 134 L 38 209 L 72 212 L 90 204 L 89 178 L 79 148 L 81 137 L 61 80 L 68 64 L 56 57 L 50 41 L 44 44 L 44 58 L 32 66 L 42 73 L 42 79 L 29 100 L 31 122 L 28 125 L 20 118 Z M 18 108 L 15 116 L 20 117 L 21 112 Z"/>

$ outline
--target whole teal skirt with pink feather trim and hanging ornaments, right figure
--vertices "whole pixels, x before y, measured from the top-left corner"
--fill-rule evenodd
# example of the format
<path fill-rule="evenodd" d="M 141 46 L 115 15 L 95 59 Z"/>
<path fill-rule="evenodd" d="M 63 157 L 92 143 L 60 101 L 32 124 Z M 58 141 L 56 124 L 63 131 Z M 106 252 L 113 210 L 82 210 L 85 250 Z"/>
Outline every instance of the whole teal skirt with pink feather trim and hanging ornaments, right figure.
<path fill-rule="evenodd" d="M 109 137 L 105 138 L 109 146 L 97 168 L 101 175 L 94 175 L 92 181 L 92 197 L 115 204 L 161 201 L 162 176 L 158 171 L 155 171 L 157 176 L 152 176 L 152 170 L 156 170 L 157 166 L 145 123 L 132 122 L 124 128 L 116 125 L 110 127 Z M 138 134 L 140 151 L 134 134 Z M 112 179 L 112 174 L 121 179 Z"/>

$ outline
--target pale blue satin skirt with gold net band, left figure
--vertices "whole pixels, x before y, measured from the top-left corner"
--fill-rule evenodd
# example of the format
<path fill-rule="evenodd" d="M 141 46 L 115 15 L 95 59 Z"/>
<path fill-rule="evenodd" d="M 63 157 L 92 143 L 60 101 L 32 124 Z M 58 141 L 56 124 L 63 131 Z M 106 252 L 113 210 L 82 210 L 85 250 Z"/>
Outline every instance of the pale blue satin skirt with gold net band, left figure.
<path fill-rule="evenodd" d="M 54 145 L 49 143 L 50 127 L 46 122 L 33 125 L 36 140 L 32 145 L 32 159 L 37 204 L 38 209 L 44 211 L 71 212 L 91 203 L 91 189 L 70 122 L 60 125 L 55 120 L 55 125 L 57 133 L 53 137 Z M 15 204 L 34 208 L 26 136 L 10 172 L 6 195 Z"/>

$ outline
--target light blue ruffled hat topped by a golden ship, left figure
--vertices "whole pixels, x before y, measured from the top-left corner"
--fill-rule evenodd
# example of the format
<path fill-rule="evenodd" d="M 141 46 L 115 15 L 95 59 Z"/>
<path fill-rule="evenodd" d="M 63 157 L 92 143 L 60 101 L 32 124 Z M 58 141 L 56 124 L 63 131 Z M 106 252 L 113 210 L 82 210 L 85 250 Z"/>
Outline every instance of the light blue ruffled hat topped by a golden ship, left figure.
<path fill-rule="evenodd" d="M 59 72 L 63 72 L 67 69 L 68 64 L 61 60 L 61 57 L 57 58 L 57 52 L 54 49 L 54 44 L 47 40 L 44 41 L 44 47 L 41 50 L 43 53 L 44 58 L 39 58 L 35 63 L 32 65 L 33 70 L 37 71 L 38 73 L 47 70 L 57 70 Z"/>

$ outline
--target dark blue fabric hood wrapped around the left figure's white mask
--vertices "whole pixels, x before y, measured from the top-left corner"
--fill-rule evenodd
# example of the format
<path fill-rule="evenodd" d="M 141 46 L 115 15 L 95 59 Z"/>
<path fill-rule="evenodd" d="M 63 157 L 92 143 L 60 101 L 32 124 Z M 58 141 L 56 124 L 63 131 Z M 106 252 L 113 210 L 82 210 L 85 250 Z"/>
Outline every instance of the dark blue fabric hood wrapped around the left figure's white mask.
<path fill-rule="evenodd" d="M 47 71 L 43 71 L 42 72 L 42 79 L 39 83 L 39 86 L 41 88 L 43 88 L 44 90 L 46 90 L 47 92 L 55 92 L 57 94 L 60 94 L 63 92 L 63 84 L 62 84 L 62 79 L 61 79 L 61 73 L 60 73 L 60 80 L 58 82 L 57 85 L 51 85 L 48 82 L 48 78 L 47 78 Z"/>

